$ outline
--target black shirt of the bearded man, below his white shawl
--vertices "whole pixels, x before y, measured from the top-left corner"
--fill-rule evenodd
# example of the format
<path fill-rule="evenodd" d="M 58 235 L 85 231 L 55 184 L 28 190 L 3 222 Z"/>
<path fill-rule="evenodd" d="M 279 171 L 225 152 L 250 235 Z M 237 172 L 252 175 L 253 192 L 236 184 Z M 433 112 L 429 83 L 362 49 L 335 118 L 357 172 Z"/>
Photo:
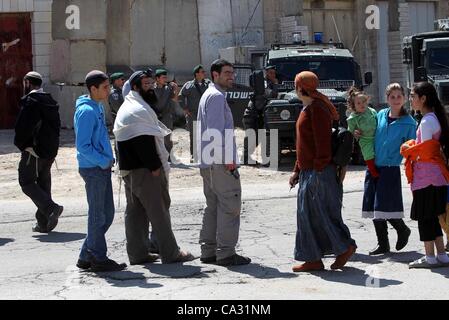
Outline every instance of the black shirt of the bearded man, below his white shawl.
<path fill-rule="evenodd" d="M 162 167 L 154 136 L 139 136 L 118 142 L 120 170 L 148 169 L 156 171 Z"/>

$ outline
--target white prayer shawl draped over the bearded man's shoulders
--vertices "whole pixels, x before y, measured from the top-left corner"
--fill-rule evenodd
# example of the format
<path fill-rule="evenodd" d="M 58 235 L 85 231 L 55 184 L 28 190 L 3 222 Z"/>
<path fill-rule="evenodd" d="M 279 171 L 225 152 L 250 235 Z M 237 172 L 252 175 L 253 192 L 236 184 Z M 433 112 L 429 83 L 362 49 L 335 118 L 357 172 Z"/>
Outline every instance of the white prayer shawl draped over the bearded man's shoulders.
<path fill-rule="evenodd" d="M 125 97 L 125 102 L 120 107 L 114 123 L 115 138 L 118 142 L 123 142 L 143 135 L 154 136 L 157 153 L 167 176 L 167 181 L 170 164 L 168 163 L 169 153 L 165 148 L 164 137 L 171 133 L 171 130 L 158 120 L 156 113 L 138 92 L 131 91 Z"/>

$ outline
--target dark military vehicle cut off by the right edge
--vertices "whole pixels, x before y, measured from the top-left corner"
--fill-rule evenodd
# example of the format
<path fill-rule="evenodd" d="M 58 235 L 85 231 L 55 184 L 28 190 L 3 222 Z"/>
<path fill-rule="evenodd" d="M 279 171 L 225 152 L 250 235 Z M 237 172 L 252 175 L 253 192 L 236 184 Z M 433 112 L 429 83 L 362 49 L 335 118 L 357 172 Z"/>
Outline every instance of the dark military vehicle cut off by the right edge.
<path fill-rule="evenodd" d="M 405 37 L 403 62 L 407 65 L 407 87 L 432 83 L 449 111 L 449 31 L 435 31 Z"/>

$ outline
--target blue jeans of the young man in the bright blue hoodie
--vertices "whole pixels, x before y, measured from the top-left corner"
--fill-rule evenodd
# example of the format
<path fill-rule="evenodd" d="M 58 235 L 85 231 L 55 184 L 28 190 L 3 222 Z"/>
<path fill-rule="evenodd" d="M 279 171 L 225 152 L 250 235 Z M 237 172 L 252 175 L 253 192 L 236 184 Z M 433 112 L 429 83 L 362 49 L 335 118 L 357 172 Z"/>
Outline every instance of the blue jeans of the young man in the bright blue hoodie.
<path fill-rule="evenodd" d="M 87 203 L 89 205 L 87 237 L 81 248 L 83 261 L 107 260 L 105 234 L 114 220 L 114 198 L 112 193 L 111 170 L 100 168 L 79 169 L 86 183 Z"/>

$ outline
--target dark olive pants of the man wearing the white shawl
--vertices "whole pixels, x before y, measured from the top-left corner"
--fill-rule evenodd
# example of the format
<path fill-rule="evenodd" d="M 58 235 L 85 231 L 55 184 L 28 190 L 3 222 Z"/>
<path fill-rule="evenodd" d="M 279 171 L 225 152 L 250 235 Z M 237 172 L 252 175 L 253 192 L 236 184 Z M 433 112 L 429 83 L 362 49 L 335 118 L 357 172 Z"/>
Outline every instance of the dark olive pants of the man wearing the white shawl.
<path fill-rule="evenodd" d="M 153 177 L 148 169 L 133 170 L 124 178 L 126 189 L 126 250 L 130 262 L 139 262 L 148 256 L 149 225 L 158 240 L 162 263 L 178 257 L 179 248 L 172 231 L 170 195 L 167 178 L 161 170 Z"/>

